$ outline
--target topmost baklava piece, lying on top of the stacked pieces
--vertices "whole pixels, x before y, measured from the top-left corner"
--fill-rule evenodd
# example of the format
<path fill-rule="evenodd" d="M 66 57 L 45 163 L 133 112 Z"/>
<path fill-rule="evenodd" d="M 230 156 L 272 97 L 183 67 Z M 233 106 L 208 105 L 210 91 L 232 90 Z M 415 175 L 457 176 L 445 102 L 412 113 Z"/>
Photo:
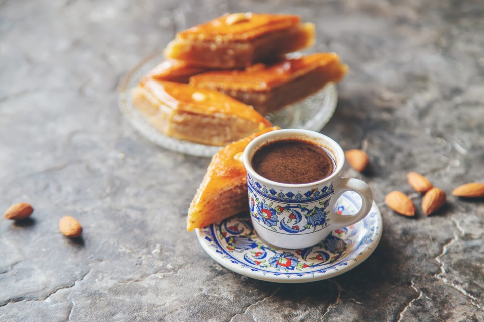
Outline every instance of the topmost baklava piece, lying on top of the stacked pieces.
<path fill-rule="evenodd" d="M 312 46 L 314 25 L 296 15 L 236 13 L 181 31 L 165 55 L 207 68 L 244 68 Z"/>

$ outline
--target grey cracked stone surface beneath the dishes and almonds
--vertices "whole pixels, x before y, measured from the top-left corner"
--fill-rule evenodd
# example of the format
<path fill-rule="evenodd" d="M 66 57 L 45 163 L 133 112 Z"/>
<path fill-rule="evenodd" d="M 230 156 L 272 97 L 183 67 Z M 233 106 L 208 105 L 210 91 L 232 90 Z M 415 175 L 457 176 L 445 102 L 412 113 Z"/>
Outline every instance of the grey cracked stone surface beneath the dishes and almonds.
<path fill-rule="evenodd" d="M 225 12 L 295 13 L 315 50 L 351 72 L 323 129 L 370 155 L 384 233 L 331 280 L 261 282 L 216 264 L 185 231 L 207 159 L 163 150 L 117 107 L 120 78 L 176 31 Z M 425 217 L 384 196 L 417 171 L 446 192 L 483 181 L 481 1 L 0 1 L 0 222 L 3 321 L 483 321 L 484 204 L 449 196 Z M 84 226 L 64 238 L 61 216 Z"/>

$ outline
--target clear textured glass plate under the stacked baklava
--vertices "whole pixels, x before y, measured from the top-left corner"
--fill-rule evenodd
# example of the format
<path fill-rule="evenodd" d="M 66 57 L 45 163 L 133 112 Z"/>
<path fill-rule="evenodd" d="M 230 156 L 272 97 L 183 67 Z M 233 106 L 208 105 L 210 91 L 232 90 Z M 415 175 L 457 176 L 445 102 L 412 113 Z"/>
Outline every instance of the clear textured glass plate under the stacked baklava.
<path fill-rule="evenodd" d="M 178 140 L 167 136 L 153 127 L 133 106 L 130 90 L 138 85 L 140 79 L 164 59 L 162 52 L 154 53 L 142 60 L 119 84 L 119 108 L 131 124 L 151 142 L 175 151 L 193 156 L 211 157 L 221 147 Z M 320 131 L 333 116 L 338 101 L 336 86 L 332 83 L 308 96 L 304 100 L 286 106 L 284 109 L 268 114 L 266 117 L 273 125 L 281 128 L 296 128 Z"/>

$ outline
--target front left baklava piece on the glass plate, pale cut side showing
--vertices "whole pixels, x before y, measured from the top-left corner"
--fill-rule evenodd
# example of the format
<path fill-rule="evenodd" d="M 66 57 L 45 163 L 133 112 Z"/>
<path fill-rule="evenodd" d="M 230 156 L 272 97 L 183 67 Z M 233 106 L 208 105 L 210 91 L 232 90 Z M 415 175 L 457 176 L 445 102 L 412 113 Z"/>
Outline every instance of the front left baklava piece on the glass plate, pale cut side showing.
<path fill-rule="evenodd" d="M 131 94 L 153 126 L 181 140 L 225 146 L 271 126 L 251 106 L 213 90 L 148 79 Z"/>

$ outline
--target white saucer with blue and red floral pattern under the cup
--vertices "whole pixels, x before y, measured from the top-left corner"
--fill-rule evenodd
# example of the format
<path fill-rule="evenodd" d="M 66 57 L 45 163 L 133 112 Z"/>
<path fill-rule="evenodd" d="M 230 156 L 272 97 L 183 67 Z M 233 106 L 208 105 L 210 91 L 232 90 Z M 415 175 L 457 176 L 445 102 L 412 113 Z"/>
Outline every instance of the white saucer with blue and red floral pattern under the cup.
<path fill-rule="evenodd" d="M 346 192 L 335 210 L 353 214 L 361 207 L 361 197 Z M 280 249 L 262 241 L 249 216 L 237 216 L 197 229 L 203 249 L 220 265 L 236 273 L 279 283 L 305 283 L 331 278 L 365 261 L 382 235 L 382 215 L 373 203 L 360 222 L 334 230 L 321 243 L 299 250 Z"/>

